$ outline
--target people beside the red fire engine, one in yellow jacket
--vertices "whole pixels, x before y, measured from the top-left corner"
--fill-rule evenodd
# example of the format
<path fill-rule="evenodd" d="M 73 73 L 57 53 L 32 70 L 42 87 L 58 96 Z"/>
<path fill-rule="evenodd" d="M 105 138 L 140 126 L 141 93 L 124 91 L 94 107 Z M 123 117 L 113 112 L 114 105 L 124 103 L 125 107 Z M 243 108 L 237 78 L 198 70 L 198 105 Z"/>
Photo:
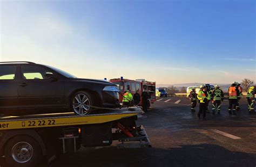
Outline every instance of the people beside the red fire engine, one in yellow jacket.
<path fill-rule="evenodd" d="M 147 92 L 146 89 L 143 90 L 142 92 L 142 108 L 143 111 L 146 112 L 147 111 L 147 101 L 150 98 L 149 93 Z M 140 95 L 139 95 L 139 91 L 136 91 L 136 93 L 134 93 L 134 95 L 132 95 L 131 91 L 129 89 L 126 90 L 126 92 L 123 95 L 123 106 L 132 106 L 132 105 L 139 105 L 140 103 Z"/>

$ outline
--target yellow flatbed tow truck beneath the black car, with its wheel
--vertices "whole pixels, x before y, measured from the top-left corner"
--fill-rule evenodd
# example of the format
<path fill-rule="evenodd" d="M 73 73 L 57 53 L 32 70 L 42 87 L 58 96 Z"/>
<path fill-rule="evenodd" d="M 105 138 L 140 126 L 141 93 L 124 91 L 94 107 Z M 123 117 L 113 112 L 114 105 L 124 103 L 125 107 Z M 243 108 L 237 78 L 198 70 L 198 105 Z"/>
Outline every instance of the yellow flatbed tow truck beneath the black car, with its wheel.
<path fill-rule="evenodd" d="M 81 146 L 150 148 L 143 126 L 136 120 L 139 107 L 104 111 L 100 114 L 35 114 L 0 117 L 0 156 L 9 166 L 51 163 L 59 155 L 75 153 Z"/>

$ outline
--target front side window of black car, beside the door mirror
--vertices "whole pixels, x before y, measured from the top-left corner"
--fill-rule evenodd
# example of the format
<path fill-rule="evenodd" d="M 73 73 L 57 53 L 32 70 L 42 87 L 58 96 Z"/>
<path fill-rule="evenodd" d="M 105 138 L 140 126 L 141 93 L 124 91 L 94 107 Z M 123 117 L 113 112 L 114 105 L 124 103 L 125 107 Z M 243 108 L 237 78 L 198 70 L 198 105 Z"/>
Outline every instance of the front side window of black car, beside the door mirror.
<path fill-rule="evenodd" d="M 47 79 L 45 74 L 52 74 L 48 69 L 31 65 L 22 65 L 21 72 L 23 79 Z"/>

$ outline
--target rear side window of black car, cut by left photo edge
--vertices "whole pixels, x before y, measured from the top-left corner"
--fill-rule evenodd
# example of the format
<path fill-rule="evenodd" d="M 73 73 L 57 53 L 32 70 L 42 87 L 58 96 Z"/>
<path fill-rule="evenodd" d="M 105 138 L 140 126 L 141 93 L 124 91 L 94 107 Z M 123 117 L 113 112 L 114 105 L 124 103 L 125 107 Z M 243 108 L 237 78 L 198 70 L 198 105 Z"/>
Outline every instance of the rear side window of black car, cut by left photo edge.
<path fill-rule="evenodd" d="M 16 66 L 0 66 L 0 80 L 15 79 Z"/>

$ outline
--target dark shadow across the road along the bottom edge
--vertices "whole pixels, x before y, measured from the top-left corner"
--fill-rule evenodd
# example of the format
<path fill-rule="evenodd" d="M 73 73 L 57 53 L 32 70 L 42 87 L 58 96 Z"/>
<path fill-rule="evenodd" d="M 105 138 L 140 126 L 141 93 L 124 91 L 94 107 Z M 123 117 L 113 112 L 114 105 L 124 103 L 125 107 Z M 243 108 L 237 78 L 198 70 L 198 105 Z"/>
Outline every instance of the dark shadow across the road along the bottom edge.
<path fill-rule="evenodd" d="M 0 158 L 1 167 L 6 167 Z M 213 144 L 168 149 L 83 149 L 62 155 L 49 166 L 252 166 L 256 154 L 233 152 Z M 48 165 L 44 165 L 48 166 Z"/>

